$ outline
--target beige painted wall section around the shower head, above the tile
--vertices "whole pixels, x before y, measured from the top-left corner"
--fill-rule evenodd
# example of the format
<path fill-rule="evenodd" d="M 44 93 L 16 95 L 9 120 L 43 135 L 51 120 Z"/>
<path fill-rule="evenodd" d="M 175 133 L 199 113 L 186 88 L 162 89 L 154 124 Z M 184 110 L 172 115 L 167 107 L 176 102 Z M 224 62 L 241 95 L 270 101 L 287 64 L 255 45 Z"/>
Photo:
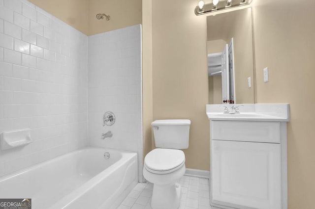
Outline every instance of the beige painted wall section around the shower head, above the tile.
<path fill-rule="evenodd" d="M 89 33 L 93 35 L 142 23 L 142 0 L 89 0 Z M 105 13 L 110 20 L 97 20 Z"/>

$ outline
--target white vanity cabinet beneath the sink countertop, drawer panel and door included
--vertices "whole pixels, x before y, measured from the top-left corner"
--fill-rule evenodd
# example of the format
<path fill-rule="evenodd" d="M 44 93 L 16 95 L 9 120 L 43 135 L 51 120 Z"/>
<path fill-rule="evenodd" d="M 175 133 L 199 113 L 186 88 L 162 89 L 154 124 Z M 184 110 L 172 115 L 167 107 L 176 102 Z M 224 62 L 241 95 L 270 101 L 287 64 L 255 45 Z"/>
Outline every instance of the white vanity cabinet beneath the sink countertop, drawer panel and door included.
<path fill-rule="evenodd" d="M 212 206 L 287 209 L 288 116 L 254 114 L 209 117 Z"/>

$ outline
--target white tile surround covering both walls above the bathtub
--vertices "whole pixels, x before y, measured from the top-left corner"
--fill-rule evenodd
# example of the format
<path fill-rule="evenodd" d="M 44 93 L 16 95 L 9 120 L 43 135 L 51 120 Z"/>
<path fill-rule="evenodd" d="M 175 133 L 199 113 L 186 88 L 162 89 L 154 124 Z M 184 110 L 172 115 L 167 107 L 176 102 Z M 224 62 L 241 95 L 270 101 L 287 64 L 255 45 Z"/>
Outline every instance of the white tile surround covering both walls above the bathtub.
<path fill-rule="evenodd" d="M 0 150 L 0 176 L 89 145 L 138 152 L 142 168 L 139 34 L 140 26 L 132 26 L 88 37 L 27 0 L 0 0 L 0 132 L 30 128 L 33 140 Z M 88 70 L 94 50 L 100 61 Z M 110 64 L 97 66 L 105 60 Z M 100 70 L 102 79 L 93 77 Z M 116 123 L 113 138 L 101 141 L 98 135 L 109 131 L 102 127 L 105 111 L 115 113 Z"/>

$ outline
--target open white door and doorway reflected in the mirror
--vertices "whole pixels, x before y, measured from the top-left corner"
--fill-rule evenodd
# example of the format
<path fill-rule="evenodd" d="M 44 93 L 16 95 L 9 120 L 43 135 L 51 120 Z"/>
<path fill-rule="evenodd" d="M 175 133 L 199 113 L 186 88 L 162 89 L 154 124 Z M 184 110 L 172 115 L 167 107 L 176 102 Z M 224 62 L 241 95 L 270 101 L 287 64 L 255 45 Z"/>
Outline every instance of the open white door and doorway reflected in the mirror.
<path fill-rule="evenodd" d="M 208 75 L 209 83 L 221 78 L 221 98 L 216 96 L 216 100 L 221 100 L 222 104 L 234 104 L 234 63 L 233 63 L 233 38 L 230 44 L 225 44 L 222 52 L 208 54 Z M 216 78 L 211 78 L 216 76 Z M 209 88 L 209 93 L 212 89 Z M 220 92 L 220 91 L 219 91 Z M 218 93 L 219 93 L 218 92 Z M 213 94 L 213 92 L 211 92 Z M 209 95 L 209 98 L 214 98 Z"/>

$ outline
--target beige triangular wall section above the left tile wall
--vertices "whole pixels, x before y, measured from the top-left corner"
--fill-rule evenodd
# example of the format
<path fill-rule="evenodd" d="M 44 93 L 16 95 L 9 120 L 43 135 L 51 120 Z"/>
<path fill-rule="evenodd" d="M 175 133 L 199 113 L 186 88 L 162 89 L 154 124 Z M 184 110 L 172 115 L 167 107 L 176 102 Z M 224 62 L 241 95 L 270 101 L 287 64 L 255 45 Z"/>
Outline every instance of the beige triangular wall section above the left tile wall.
<path fill-rule="evenodd" d="M 29 0 L 66 24 L 88 34 L 89 0 Z"/>

